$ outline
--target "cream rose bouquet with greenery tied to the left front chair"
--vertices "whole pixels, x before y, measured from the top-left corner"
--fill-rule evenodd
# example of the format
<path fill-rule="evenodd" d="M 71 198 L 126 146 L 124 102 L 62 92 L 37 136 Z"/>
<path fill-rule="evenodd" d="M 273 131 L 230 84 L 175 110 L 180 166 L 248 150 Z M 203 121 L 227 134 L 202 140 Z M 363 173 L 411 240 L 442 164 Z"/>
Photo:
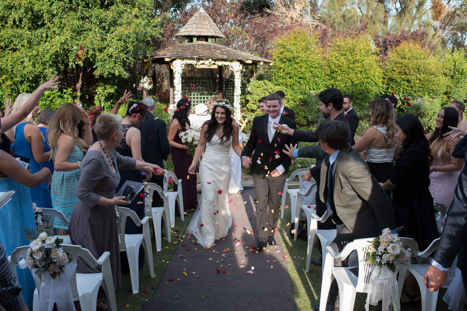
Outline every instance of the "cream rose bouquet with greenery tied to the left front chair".
<path fill-rule="evenodd" d="M 34 274 L 42 280 L 45 273 L 56 278 L 63 272 L 64 265 L 71 262 L 71 254 L 63 250 L 60 244 L 63 239 L 51 237 L 47 232 L 41 232 L 31 241 L 26 255 L 26 264 L 36 269 Z"/>

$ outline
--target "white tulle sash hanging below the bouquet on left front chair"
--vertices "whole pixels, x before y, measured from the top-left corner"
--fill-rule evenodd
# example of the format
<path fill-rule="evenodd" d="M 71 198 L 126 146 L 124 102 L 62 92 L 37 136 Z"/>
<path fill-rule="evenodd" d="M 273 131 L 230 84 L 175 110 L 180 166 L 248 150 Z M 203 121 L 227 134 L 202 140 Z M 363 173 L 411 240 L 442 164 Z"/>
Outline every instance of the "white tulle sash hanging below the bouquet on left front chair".
<path fill-rule="evenodd" d="M 39 306 L 37 310 L 52 311 L 54 303 L 57 304 L 59 311 L 76 311 L 71 294 L 70 280 L 76 271 L 78 264 L 65 264 L 63 272 L 55 279 L 50 277 L 49 273 L 42 276 L 41 288 L 39 289 Z M 39 280 L 32 270 L 32 275 Z"/>

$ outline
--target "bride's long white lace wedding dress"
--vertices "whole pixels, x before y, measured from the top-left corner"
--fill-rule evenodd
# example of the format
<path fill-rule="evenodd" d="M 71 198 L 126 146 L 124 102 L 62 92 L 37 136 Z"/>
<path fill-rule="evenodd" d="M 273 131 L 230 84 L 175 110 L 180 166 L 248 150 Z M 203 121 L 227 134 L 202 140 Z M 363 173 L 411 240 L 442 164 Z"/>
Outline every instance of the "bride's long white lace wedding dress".
<path fill-rule="evenodd" d="M 191 232 L 203 246 L 212 246 L 215 240 L 226 237 L 232 225 L 228 204 L 231 146 L 232 137 L 220 144 L 220 138 L 212 136 L 211 141 L 206 142 L 199 166 L 201 196 L 186 231 Z"/>

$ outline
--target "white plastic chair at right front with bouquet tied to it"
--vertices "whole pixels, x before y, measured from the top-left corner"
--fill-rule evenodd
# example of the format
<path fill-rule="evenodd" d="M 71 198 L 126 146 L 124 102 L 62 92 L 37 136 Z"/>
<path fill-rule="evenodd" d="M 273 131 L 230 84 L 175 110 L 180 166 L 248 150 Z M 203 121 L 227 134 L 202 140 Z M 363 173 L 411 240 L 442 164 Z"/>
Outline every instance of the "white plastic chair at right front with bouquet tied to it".
<path fill-rule="evenodd" d="M 321 284 L 321 298 L 319 302 L 319 310 L 326 309 L 327 297 L 331 283 L 336 279 L 339 285 L 340 308 L 341 311 L 354 310 L 356 292 L 368 293 L 368 283 L 371 276 L 372 264 L 365 264 L 368 254 L 365 250 L 369 248 L 369 243 L 372 238 L 358 239 L 348 243 L 340 254 L 336 253 L 331 246 L 326 247 L 326 260 L 323 271 L 323 282 Z M 350 267 L 334 267 L 333 259 L 344 260 L 354 250 L 358 254 L 358 277 L 349 270 Z M 394 285 L 397 290 L 397 282 Z M 393 308 L 396 310 L 396 297 L 392 297 Z M 398 298 L 398 297 L 397 297 Z M 400 311 L 400 308 L 397 309 Z"/>

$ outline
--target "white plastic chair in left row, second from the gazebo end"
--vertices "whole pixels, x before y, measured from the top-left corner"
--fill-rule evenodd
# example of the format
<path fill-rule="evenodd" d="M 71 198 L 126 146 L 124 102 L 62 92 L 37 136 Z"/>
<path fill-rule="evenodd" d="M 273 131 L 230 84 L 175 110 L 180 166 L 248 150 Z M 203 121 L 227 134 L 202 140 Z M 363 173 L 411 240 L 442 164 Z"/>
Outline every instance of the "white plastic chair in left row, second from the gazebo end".
<path fill-rule="evenodd" d="M 153 197 L 154 191 L 156 191 L 161 199 L 165 200 L 167 198 L 167 194 L 163 192 L 160 186 L 156 185 L 155 183 L 148 183 L 149 187 L 149 198 Z M 170 234 L 170 219 L 169 216 L 165 214 L 164 207 L 152 207 L 152 204 L 149 206 L 145 206 L 145 214 L 144 216 L 152 217 L 152 225 L 154 228 L 154 233 L 156 236 L 156 250 L 161 251 L 162 249 L 162 238 L 161 238 L 161 230 L 162 230 L 162 220 L 165 223 L 165 230 L 166 230 L 166 237 L 167 242 L 171 242 L 171 234 Z"/>

